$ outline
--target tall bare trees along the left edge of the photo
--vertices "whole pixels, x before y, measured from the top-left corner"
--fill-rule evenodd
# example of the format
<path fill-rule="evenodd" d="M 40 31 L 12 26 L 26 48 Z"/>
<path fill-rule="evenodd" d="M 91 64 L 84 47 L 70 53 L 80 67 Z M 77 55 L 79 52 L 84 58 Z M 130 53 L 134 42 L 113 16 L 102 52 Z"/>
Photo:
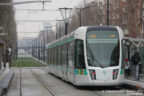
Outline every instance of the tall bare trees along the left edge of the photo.
<path fill-rule="evenodd" d="M 11 0 L 0 0 L 0 3 L 10 3 Z M 0 37 L 0 40 L 4 42 L 3 52 L 5 52 L 7 46 L 12 47 L 12 56 L 16 57 L 17 49 L 17 33 L 16 33 L 16 22 L 14 19 L 13 6 L 0 6 L 0 26 L 4 27 L 2 32 L 6 33 L 5 37 Z M 5 54 L 5 53 L 4 53 Z"/>

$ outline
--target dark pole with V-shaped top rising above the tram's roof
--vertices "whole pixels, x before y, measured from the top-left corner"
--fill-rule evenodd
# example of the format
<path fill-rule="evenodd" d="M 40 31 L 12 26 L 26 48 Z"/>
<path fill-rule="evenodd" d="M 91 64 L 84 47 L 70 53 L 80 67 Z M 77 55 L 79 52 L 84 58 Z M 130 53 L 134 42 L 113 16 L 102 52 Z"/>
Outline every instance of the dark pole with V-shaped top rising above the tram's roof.
<path fill-rule="evenodd" d="M 71 13 L 72 8 L 59 8 L 62 18 L 65 22 L 65 35 L 67 35 L 68 18 Z"/>

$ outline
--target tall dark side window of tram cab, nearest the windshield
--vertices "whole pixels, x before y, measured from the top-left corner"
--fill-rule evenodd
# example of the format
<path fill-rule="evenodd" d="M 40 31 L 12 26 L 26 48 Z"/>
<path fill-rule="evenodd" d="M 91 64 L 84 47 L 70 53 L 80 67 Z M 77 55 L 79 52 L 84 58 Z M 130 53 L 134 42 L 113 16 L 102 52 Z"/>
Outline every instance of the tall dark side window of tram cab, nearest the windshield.
<path fill-rule="evenodd" d="M 83 41 L 82 40 L 76 40 L 75 67 L 76 68 L 85 68 L 84 46 L 83 46 Z"/>

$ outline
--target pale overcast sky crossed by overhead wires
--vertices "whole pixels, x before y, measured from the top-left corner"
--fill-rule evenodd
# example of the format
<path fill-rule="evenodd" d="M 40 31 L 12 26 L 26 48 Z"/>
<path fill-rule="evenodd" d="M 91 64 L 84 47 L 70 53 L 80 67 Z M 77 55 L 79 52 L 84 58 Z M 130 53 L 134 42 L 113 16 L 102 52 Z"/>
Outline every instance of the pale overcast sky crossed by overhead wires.
<path fill-rule="evenodd" d="M 26 0 L 13 0 L 14 2 L 21 2 Z M 29 0 L 31 1 L 31 0 Z M 34 0 L 35 1 L 35 0 Z M 52 2 L 45 4 L 46 10 L 58 10 L 63 7 L 74 7 L 81 0 L 51 0 Z M 17 9 L 17 10 L 16 10 Z M 15 5 L 15 18 L 17 21 L 17 31 L 26 32 L 19 33 L 19 37 L 31 37 L 37 36 L 38 33 L 27 32 L 39 32 L 43 27 L 43 23 L 40 22 L 20 22 L 20 20 L 56 20 L 61 18 L 59 11 L 22 11 L 19 9 L 43 9 L 42 3 L 34 4 L 20 4 Z M 54 23 L 53 23 L 54 24 Z"/>

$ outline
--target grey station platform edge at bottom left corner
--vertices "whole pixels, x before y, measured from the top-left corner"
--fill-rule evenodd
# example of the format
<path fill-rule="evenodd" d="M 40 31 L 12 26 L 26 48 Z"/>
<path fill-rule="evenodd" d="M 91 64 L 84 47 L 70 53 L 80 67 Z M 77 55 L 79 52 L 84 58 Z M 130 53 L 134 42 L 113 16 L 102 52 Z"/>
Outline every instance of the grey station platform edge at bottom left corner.
<path fill-rule="evenodd" d="M 0 70 L 0 96 L 6 94 L 14 76 L 13 69 Z"/>

